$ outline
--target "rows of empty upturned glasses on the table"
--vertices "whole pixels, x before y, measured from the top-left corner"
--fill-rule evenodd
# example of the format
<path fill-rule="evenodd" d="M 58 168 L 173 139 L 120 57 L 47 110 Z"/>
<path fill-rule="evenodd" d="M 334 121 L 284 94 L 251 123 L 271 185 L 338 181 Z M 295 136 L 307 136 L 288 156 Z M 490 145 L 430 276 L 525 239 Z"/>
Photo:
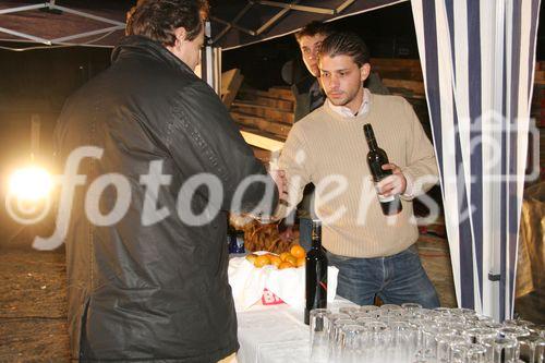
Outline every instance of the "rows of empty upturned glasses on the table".
<path fill-rule="evenodd" d="M 316 308 L 310 327 L 313 363 L 545 363 L 545 326 L 469 308 Z"/>

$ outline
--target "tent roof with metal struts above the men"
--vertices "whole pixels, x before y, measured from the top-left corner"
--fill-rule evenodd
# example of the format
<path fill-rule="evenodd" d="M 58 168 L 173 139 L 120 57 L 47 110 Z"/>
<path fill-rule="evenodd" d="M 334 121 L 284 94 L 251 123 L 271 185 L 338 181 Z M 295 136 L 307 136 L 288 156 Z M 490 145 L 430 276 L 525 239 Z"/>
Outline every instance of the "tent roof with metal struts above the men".
<path fill-rule="evenodd" d="M 223 49 L 282 36 L 313 20 L 331 21 L 407 0 L 211 0 L 213 43 Z M 135 0 L 5 0 L 0 40 L 113 47 Z"/>

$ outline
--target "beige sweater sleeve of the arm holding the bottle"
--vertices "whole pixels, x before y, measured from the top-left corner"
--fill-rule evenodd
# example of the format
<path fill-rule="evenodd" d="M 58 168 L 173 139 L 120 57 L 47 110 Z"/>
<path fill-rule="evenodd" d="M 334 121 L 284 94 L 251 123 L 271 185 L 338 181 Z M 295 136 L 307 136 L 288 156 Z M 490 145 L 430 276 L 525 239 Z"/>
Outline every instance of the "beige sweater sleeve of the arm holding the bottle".
<path fill-rule="evenodd" d="M 432 143 L 427 138 L 422 124 L 408 101 L 403 102 L 409 119 L 407 137 L 405 167 L 403 174 L 411 183 L 411 195 L 414 198 L 427 192 L 438 181 L 437 160 Z M 407 195 L 405 195 L 407 198 Z"/>

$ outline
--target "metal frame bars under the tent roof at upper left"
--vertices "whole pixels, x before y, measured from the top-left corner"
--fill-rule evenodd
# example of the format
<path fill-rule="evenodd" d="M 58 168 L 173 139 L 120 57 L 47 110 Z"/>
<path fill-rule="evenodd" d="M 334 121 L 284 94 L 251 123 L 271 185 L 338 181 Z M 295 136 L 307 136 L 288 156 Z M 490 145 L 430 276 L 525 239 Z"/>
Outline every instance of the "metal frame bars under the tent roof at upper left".
<path fill-rule="evenodd" d="M 13 31 L 13 29 L 4 28 L 4 27 L 0 27 L 0 33 L 5 33 L 5 34 L 14 35 L 16 37 L 22 38 L 22 39 L 7 39 L 9 41 L 32 40 L 32 41 L 41 43 L 41 44 L 51 46 L 53 44 L 59 44 L 59 45 L 77 45 L 77 44 L 74 44 L 74 43 L 66 43 L 66 40 L 81 39 L 81 38 L 86 38 L 86 37 L 89 37 L 89 36 L 93 36 L 93 35 L 100 35 L 100 34 L 105 34 L 105 36 L 108 36 L 109 34 L 111 34 L 111 33 L 113 33 L 116 31 L 121 31 L 121 29 L 125 28 L 125 23 L 118 22 L 118 21 L 114 21 L 114 20 L 111 20 L 111 19 L 107 19 L 107 17 L 104 17 L 104 16 L 97 16 L 97 15 L 94 15 L 94 14 L 90 14 L 90 13 L 86 13 L 86 12 L 83 12 L 83 11 L 73 10 L 73 9 L 70 9 L 70 8 L 66 8 L 66 7 L 57 5 L 55 3 L 55 1 L 56 0 L 49 0 L 49 1 L 40 3 L 40 4 L 2 9 L 2 10 L 0 10 L 0 15 L 12 14 L 12 13 L 23 12 L 23 11 L 31 11 L 31 10 L 49 9 L 49 10 L 59 10 L 59 11 L 62 11 L 62 12 L 65 12 L 65 13 L 69 13 L 69 14 L 74 14 L 74 15 L 82 16 L 82 17 L 87 17 L 87 19 L 90 19 L 90 20 L 94 20 L 94 21 L 97 21 L 97 22 L 109 24 L 111 26 L 108 26 L 108 27 L 105 27 L 105 28 L 99 28 L 99 29 L 96 29 L 96 31 L 89 31 L 89 32 L 73 34 L 73 35 L 69 35 L 69 36 L 64 36 L 64 37 L 60 37 L 60 38 L 55 38 L 55 39 L 46 39 L 46 38 L 41 38 L 41 37 L 32 35 L 32 34 L 21 33 L 21 32 L 16 32 L 16 31 Z M 93 40 L 89 40 L 89 41 L 87 41 L 85 44 L 89 45 L 93 41 L 97 41 L 97 40 L 98 39 L 93 39 Z M 85 45 L 85 44 L 83 44 L 83 45 Z"/>

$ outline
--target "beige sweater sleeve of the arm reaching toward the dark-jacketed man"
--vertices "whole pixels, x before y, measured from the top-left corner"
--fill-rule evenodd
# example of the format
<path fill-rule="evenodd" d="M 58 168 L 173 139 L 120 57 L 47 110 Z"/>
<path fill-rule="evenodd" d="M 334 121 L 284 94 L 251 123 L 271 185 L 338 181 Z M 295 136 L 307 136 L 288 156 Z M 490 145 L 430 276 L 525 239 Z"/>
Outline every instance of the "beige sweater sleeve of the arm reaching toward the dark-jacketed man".
<path fill-rule="evenodd" d="M 286 171 L 288 179 L 288 203 L 287 205 L 278 205 L 275 213 L 276 218 L 288 217 L 303 198 L 303 190 L 312 181 L 308 168 L 311 156 L 301 128 L 299 128 L 299 124 L 293 125 L 283 145 L 278 162 L 280 170 Z"/>

